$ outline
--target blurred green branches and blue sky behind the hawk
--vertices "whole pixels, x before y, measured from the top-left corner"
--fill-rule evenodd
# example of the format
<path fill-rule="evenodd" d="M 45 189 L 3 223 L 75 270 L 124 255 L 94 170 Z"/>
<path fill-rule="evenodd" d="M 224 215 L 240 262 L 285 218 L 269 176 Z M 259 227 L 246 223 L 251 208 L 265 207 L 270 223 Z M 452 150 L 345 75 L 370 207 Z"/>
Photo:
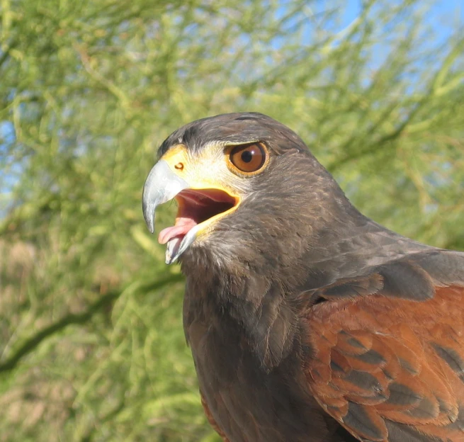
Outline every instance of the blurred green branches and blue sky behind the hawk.
<path fill-rule="evenodd" d="M 140 202 L 191 120 L 267 113 L 374 220 L 464 249 L 463 8 L 1 0 L 0 441 L 218 441 Z"/>

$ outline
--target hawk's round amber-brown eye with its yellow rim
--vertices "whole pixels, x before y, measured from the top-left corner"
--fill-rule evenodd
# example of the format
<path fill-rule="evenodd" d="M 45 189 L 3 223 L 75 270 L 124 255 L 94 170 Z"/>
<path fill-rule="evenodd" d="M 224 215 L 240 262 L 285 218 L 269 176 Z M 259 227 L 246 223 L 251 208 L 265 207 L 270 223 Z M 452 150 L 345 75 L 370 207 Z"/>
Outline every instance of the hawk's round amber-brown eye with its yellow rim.
<path fill-rule="evenodd" d="M 227 151 L 230 169 L 239 174 L 253 175 L 261 171 L 268 162 L 268 150 L 261 142 L 230 146 Z"/>

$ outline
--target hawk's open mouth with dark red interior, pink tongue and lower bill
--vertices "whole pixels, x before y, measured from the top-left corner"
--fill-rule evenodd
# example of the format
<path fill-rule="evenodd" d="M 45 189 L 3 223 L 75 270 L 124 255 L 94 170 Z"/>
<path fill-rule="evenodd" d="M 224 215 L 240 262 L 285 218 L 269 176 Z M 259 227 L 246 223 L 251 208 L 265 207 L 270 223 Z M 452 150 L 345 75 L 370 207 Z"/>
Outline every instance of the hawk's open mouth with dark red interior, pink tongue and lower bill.
<path fill-rule="evenodd" d="M 195 235 L 206 223 L 224 216 L 239 203 L 238 198 L 219 189 L 184 189 L 175 198 L 179 205 L 176 222 L 158 236 L 160 244 L 167 243 L 166 261 L 170 261 L 171 256 L 178 256 L 186 236 Z"/>

